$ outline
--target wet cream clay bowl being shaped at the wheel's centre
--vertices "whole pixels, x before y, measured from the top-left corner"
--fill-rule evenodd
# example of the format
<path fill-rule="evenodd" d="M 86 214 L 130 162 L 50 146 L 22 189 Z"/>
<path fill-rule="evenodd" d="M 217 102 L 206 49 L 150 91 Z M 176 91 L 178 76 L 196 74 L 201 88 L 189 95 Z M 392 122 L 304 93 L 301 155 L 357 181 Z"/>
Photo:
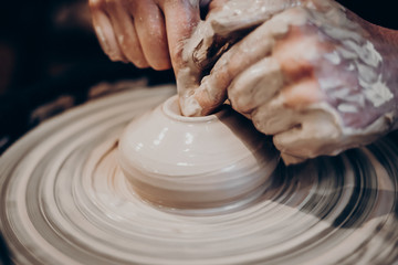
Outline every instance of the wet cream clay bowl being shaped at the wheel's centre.
<path fill-rule="evenodd" d="M 133 120 L 118 145 L 119 166 L 143 199 L 170 209 L 232 209 L 268 187 L 279 153 L 250 120 L 226 105 L 184 117 L 174 96 Z"/>

